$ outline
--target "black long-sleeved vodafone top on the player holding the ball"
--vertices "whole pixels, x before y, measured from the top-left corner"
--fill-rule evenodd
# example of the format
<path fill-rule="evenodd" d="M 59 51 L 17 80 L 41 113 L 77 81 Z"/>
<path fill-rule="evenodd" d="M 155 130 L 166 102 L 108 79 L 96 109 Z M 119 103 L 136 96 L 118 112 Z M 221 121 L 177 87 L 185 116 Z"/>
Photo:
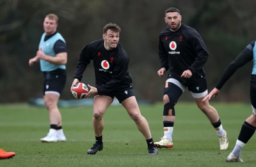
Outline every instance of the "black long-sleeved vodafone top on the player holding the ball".
<path fill-rule="evenodd" d="M 104 48 L 104 40 L 92 41 L 86 45 L 77 62 L 74 78 L 81 81 L 90 61 L 93 61 L 95 85 L 99 94 L 132 87 L 132 78 L 128 72 L 129 57 L 121 45 L 118 44 L 113 50 Z"/>

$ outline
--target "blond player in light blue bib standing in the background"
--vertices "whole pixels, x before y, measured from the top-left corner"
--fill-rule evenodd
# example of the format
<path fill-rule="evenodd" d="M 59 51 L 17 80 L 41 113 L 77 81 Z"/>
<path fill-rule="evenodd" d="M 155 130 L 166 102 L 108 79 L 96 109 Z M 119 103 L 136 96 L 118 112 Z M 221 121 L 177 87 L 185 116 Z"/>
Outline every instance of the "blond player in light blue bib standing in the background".
<path fill-rule="evenodd" d="M 57 32 L 58 16 L 49 14 L 44 19 L 44 31 L 36 56 L 29 59 L 29 66 L 40 61 L 44 73 L 44 103 L 49 112 L 50 129 L 42 142 L 64 142 L 61 113 L 58 109 L 60 94 L 67 80 L 67 45 L 64 38 Z"/>

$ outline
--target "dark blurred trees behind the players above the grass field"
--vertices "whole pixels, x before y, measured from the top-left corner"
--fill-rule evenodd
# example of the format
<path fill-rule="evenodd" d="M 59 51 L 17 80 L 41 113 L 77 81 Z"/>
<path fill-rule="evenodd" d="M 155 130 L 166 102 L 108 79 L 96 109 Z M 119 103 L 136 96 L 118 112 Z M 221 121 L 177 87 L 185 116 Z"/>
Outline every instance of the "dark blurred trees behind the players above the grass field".
<path fill-rule="evenodd" d="M 201 34 L 210 57 L 205 64 L 209 91 L 225 67 L 256 36 L 254 0 L 0 0 L 0 103 L 20 103 L 42 98 L 43 76 L 39 64 L 28 61 L 38 49 L 44 33 L 44 17 L 59 17 L 58 32 L 67 41 L 67 85 L 61 99 L 74 99 L 70 85 L 81 50 L 90 41 L 102 38 L 102 27 L 114 22 L 122 28 L 120 45 L 130 57 L 129 72 L 138 99 L 162 101 L 166 77 L 157 70 L 158 37 L 166 27 L 164 11 L 179 8 L 182 22 Z M 216 101 L 249 101 L 252 62 L 239 69 Z M 82 82 L 94 85 L 90 64 Z M 182 96 L 191 101 L 187 91 Z"/>

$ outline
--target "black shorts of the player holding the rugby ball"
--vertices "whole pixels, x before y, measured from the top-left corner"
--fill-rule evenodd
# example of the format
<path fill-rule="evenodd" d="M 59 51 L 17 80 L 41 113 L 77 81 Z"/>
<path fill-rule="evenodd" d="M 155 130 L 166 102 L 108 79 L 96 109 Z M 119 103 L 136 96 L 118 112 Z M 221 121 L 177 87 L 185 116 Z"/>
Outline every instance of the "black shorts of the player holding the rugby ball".
<path fill-rule="evenodd" d="M 119 103 L 122 103 L 122 101 L 124 101 L 127 98 L 130 98 L 131 96 L 134 96 L 134 92 L 132 90 L 132 88 L 124 90 L 124 91 L 113 91 L 113 92 L 109 92 L 109 93 L 104 93 L 104 94 L 100 94 L 100 95 L 104 95 L 104 96 L 109 96 L 112 99 L 114 99 L 114 97 L 116 97 L 116 99 L 118 99 Z"/>

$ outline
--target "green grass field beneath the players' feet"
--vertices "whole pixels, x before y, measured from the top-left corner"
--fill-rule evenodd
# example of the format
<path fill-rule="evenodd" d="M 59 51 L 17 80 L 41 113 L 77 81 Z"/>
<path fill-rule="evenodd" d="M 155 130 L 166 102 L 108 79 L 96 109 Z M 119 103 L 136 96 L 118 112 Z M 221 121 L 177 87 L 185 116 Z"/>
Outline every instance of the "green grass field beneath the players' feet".
<path fill-rule="evenodd" d="M 0 148 L 16 152 L 0 166 L 255 166 L 255 136 L 243 149 L 244 163 L 226 163 L 241 125 L 252 108 L 245 103 L 212 103 L 227 130 L 229 147 L 219 150 L 218 138 L 205 115 L 194 103 L 178 103 L 172 149 L 147 156 L 147 143 L 122 106 L 110 106 L 104 115 L 104 149 L 86 151 L 95 142 L 92 106 L 60 108 L 67 142 L 41 143 L 49 129 L 44 107 L 27 104 L 0 105 Z M 140 105 L 150 124 L 154 141 L 163 136 L 161 103 Z"/>

